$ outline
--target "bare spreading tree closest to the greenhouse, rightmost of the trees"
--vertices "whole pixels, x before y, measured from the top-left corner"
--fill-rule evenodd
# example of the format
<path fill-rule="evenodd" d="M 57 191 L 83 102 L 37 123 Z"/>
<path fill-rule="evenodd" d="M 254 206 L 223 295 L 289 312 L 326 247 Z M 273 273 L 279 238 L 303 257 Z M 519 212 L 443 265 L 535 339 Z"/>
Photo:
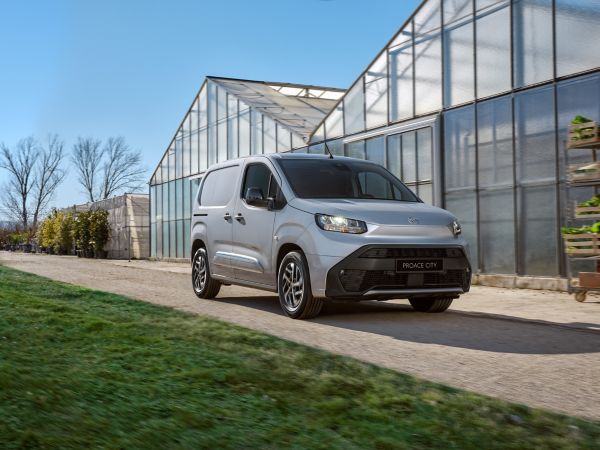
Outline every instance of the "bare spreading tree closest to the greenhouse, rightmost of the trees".
<path fill-rule="evenodd" d="M 102 149 L 105 160 L 102 166 L 101 198 L 119 191 L 138 190 L 145 181 L 142 156 L 132 150 L 122 137 L 108 138 Z"/>

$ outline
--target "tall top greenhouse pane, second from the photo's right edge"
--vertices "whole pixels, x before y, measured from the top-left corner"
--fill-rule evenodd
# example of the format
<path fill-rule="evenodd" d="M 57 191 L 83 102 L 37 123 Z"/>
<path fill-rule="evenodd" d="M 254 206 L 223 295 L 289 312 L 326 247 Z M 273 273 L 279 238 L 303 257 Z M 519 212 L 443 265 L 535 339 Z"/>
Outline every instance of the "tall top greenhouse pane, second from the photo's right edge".
<path fill-rule="evenodd" d="M 514 0 L 515 86 L 552 78 L 552 0 Z"/>

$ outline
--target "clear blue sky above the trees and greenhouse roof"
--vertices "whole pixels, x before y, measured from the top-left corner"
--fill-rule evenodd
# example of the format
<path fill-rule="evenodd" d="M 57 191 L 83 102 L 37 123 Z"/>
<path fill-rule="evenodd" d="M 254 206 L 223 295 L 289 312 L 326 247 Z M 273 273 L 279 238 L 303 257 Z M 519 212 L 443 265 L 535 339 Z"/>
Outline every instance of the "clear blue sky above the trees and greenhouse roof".
<path fill-rule="evenodd" d="M 124 136 L 150 173 L 206 75 L 347 88 L 419 3 L 0 0 L 0 142 Z"/>

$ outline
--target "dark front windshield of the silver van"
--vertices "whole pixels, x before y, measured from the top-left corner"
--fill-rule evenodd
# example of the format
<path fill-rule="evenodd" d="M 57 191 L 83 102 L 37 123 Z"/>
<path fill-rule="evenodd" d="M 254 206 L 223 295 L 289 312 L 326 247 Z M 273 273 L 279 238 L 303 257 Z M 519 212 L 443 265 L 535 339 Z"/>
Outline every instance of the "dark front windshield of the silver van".
<path fill-rule="evenodd" d="M 300 198 L 351 198 L 419 202 L 390 172 L 376 164 L 339 159 L 278 159 Z"/>

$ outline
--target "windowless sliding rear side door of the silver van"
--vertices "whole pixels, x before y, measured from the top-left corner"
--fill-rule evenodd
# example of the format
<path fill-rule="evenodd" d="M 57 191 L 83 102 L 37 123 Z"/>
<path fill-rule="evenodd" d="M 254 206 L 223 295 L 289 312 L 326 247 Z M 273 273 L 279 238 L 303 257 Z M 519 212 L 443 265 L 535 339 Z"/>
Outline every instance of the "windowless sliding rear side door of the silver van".
<path fill-rule="evenodd" d="M 209 172 L 200 192 L 200 205 L 194 212 L 194 227 L 206 227 L 206 251 L 215 278 L 233 277 L 231 239 L 239 173 L 239 165 Z"/>

